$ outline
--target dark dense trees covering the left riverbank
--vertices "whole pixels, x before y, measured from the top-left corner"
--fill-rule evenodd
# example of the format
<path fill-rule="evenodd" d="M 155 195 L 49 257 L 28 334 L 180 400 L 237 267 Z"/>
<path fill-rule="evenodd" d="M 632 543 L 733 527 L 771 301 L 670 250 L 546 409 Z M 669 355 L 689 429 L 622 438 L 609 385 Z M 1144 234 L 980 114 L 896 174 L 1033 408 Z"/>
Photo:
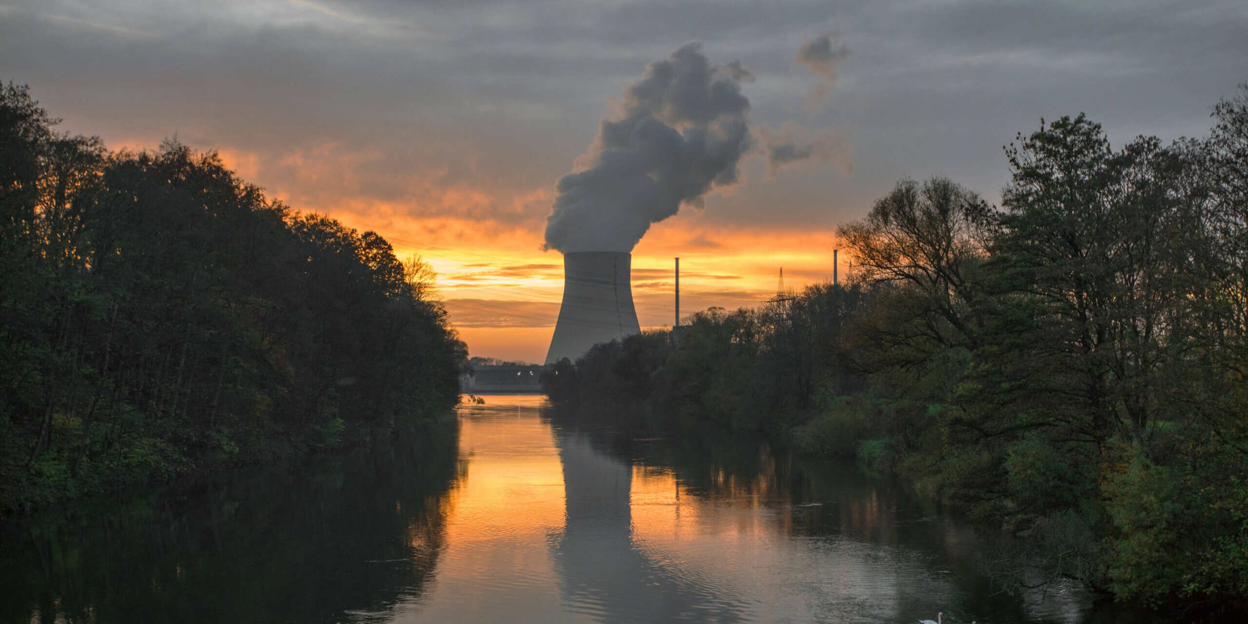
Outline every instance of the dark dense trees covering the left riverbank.
<path fill-rule="evenodd" d="M 466 348 L 431 271 L 176 142 L 0 90 L 0 509 L 411 428 Z"/>

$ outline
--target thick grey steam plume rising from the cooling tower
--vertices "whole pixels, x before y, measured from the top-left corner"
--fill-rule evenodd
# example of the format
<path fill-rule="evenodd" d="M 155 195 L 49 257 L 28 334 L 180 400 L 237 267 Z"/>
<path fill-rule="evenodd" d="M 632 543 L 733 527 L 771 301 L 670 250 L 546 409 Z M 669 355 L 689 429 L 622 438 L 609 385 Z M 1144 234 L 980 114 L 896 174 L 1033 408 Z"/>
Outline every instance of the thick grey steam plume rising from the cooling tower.
<path fill-rule="evenodd" d="M 555 185 L 543 248 L 630 252 L 650 223 L 735 183 L 754 146 L 741 94 L 751 80 L 738 61 L 711 65 L 701 44 L 651 62 L 624 90 L 619 119 L 600 122 L 588 168 Z"/>

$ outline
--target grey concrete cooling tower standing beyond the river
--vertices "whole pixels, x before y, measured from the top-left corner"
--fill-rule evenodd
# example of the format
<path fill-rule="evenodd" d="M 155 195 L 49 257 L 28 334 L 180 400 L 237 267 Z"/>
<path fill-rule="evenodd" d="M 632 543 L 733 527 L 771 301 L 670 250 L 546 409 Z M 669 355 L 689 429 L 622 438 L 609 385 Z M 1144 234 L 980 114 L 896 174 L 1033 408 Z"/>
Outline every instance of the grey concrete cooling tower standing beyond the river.
<path fill-rule="evenodd" d="M 640 333 L 629 277 L 633 256 L 613 251 L 563 255 L 563 305 L 547 352 L 548 364 L 573 362 L 589 347 Z"/>

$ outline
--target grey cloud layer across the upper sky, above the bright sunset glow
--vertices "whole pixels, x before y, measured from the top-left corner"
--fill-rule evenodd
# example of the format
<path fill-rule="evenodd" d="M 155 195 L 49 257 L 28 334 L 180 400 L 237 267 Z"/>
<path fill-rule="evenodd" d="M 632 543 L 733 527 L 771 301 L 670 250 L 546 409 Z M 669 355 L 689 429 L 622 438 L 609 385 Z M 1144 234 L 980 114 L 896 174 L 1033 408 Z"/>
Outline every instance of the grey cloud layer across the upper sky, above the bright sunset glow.
<path fill-rule="evenodd" d="M 406 181 L 499 195 L 547 187 L 583 151 L 604 94 L 698 39 L 753 70 L 743 89 L 753 120 L 800 121 L 810 135 L 794 139 L 806 142 L 837 127 L 855 147 L 852 178 L 789 171 L 784 183 L 713 197 L 701 218 L 831 227 L 901 175 L 953 176 L 991 198 L 1007 175 L 1000 146 L 1041 116 L 1086 111 L 1117 141 L 1199 135 L 1248 59 L 1242 1 L 308 4 L 331 12 L 290 1 L 7 0 L 0 77 L 30 84 L 64 130 L 110 145 L 178 132 L 195 147 L 245 151 L 250 180 L 308 190 L 291 197 L 296 207 L 323 188 L 338 195 L 318 208 L 383 198 L 423 217 L 442 213 L 441 200 Z M 832 24 L 854 55 L 835 66 L 831 106 L 795 117 L 814 75 L 792 67 L 794 50 Z M 301 176 L 317 161 L 333 166 Z M 498 202 L 463 210 L 525 223 L 537 246 L 548 208 L 547 198 L 520 216 Z"/>

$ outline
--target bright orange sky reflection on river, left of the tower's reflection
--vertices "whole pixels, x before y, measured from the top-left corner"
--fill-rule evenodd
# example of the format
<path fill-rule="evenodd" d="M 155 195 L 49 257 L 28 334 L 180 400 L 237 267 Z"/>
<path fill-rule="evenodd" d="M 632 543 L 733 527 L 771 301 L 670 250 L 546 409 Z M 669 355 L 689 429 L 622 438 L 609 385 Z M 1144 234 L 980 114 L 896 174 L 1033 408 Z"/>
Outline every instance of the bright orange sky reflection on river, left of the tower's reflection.
<path fill-rule="evenodd" d="M 535 408 L 461 407 L 461 474 L 441 502 L 437 582 L 418 604 L 397 609 L 396 622 L 488 622 L 557 608 L 547 538 L 563 528 L 563 468 Z"/>

